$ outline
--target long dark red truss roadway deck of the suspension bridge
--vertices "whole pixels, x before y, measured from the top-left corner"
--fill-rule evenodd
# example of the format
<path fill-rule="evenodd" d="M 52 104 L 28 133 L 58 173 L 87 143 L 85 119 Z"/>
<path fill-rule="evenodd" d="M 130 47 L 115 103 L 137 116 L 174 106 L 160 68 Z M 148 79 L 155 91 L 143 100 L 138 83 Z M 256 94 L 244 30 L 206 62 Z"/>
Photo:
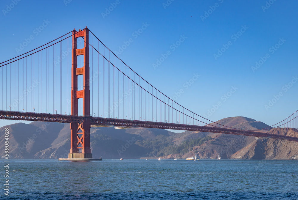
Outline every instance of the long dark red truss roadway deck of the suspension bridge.
<path fill-rule="evenodd" d="M 149 122 L 129 119 L 113 119 L 93 116 L 72 116 L 72 115 L 59 115 L 59 114 L 46 114 L 46 113 L 32 113 L 32 112 L 15 112 L 15 111 L 0 111 L 0 119 L 9 120 L 24 120 L 24 121 L 41 121 L 41 122 L 59 122 L 59 123 L 71 123 L 71 122 L 83 122 L 84 119 L 90 119 L 91 125 L 97 126 L 119 126 L 119 127 L 142 127 L 142 128 L 158 128 L 158 129 L 173 129 L 173 130 L 189 130 L 200 131 L 209 133 L 226 133 L 232 135 L 253 136 L 260 138 L 273 138 L 280 140 L 296 141 L 297 137 L 283 136 L 265 133 L 265 131 L 249 131 L 238 130 L 229 128 L 220 128 L 214 126 L 196 126 L 196 125 L 184 125 L 173 124 L 165 122 Z"/>

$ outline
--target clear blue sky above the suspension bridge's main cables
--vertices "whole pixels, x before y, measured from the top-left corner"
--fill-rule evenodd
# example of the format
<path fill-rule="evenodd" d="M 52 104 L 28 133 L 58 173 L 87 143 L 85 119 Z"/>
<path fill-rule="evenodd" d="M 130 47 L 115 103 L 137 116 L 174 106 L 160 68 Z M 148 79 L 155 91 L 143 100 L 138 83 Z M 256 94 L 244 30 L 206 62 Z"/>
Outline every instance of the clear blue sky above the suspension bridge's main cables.
<path fill-rule="evenodd" d="M 297 9 L 297 1 L 280 0 L 3 0 L 1 62 L 17 56 L 16 48 L 45 21 L 24 51 L 88 26 L 191 111 L 213 121 L 245 116 L 273 125 L 298 109 Z"/>

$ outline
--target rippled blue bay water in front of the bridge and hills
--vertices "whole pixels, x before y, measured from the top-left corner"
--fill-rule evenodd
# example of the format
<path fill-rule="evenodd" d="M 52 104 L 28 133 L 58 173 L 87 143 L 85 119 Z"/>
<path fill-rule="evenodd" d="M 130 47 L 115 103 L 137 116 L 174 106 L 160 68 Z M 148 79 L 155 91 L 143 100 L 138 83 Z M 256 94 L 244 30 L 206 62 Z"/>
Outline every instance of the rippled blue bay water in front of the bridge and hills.
<path fill-rule="evenodd" d="M 1 199 L 298 199 L 297 166 L 297 160 L 10 159 L 9 196 L 2 185 Z"/>

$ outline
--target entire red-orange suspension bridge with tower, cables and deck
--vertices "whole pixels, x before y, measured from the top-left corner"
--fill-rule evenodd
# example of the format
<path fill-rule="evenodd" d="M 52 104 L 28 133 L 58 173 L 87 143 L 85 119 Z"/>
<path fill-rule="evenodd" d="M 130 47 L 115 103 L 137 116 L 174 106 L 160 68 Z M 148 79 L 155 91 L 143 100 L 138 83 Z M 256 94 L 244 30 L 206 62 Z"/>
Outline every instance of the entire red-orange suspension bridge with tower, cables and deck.
<path fill-rule="evenodd" d="M 90 37 L 89 37 L 90 36 Z M 70 56 L 71 55 L 71 56 Z M 298 141 L 272 134 L 283 121 L 241 130 L 208 120 L 175 102 L 132 70 L 87 27 L 0 63 L 0 119 L 70 123 L 69 159 L 91 159 L 90 127 L 119 126 L 226 133 Z"/>

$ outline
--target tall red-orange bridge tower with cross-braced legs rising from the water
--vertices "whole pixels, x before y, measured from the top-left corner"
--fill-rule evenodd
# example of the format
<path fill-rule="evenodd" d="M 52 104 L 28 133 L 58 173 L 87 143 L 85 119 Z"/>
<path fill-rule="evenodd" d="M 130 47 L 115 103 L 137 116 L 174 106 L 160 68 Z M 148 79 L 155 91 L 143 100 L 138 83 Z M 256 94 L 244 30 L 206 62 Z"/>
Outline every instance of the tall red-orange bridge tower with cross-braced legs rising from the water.
<path fill-rule="evenodd" d="M 71 114 L 78 115 L 78 99 L 83 99 L 83 122 L 72 122 L 71 147 L 68 158 L 92 158 L 90 151 L 89 29 L 72 31 Z M 84 47 L 77 49 L 77 38 L 84 38 Z M 77 68 L 77 57 L 84 56 L 84 66 Z M 78 90 L 78 76 L 83 75 L 83 90 Z"/>

